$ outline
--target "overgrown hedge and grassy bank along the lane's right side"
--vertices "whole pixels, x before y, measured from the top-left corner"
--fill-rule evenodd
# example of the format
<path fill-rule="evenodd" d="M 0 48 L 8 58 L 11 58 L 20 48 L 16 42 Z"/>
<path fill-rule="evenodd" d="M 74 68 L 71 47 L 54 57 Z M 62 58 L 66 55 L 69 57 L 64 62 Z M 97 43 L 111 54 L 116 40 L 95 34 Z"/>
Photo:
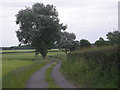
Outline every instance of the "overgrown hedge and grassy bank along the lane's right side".
<path fill-rule="evenodd" d="M 64 57 L 62 73 L 82 88 L 118 87 L 118 46 L 87 48 Z"/>

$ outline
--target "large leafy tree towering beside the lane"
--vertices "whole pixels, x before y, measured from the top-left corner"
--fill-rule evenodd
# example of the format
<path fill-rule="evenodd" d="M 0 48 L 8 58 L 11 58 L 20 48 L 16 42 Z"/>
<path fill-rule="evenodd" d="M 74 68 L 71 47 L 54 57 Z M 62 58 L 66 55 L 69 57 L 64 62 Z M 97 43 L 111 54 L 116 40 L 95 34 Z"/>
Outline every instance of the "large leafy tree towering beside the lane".
<path fill-rule="evenodd" d="M 22 9 L 16 15 L 16 31 L 18 40 L 36 48 L 36 55 L 41 53 L 43 58 L 51 47 L 61 36 L 61 30 L 66 26 L 59 23 L 58 12 L 53 5 L 35 3 L 32 8 Z"/>

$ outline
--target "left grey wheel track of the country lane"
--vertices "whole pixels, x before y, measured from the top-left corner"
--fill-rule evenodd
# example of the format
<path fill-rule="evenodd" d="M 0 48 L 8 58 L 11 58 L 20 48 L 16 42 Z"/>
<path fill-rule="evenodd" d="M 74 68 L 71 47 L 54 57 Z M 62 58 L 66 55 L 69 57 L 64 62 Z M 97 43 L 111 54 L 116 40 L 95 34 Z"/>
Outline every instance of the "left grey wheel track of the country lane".
<path fill-rule="evenodd" d="M 50 65 L 52 62 L 36 71 L 27 81 L 26 88 L 48 88 L 48 84 L 45 82 L 45 71 Z"/>

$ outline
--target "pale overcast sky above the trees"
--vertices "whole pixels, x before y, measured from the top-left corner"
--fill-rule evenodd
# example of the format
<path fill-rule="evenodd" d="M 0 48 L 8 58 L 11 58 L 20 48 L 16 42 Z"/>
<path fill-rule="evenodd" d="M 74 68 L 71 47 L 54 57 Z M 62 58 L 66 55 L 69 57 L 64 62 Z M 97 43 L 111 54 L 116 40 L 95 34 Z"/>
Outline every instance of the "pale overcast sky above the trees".
<path fill-rule="evenodd" d="M 17 46 L 15 15 L 25 6 L 34 3 L 53 4 L 66 31 L 76 34 L 76 40 L 87 39 L 94 43 L 106 39 L 109 31 L 118 29 L 119 0 L 0 0 L 0 46 Z"/>

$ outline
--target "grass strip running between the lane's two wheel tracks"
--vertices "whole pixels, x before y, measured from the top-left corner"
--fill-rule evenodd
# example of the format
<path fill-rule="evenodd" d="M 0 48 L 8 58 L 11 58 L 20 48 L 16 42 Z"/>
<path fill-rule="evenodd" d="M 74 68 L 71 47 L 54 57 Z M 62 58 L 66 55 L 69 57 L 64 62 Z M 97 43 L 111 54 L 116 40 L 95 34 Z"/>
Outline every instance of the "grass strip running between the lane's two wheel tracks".
<path fill-rule="evenodd" d="M 55 60 L 55 59 L 54 59 Z M 45 77 L 45 81 L 48 83 L 48 87 L 49 88 L 60 88 L 60 86 L 58 86 L 54 79 L 51 77 L 51 73 L 52 73 L 52 70 L 53 70 L 53 67 L 58 63 L 57 60 L 54 61 L 54 63 L 46 70 L 45 74 L 46 74 L 46 77 Z"/>

